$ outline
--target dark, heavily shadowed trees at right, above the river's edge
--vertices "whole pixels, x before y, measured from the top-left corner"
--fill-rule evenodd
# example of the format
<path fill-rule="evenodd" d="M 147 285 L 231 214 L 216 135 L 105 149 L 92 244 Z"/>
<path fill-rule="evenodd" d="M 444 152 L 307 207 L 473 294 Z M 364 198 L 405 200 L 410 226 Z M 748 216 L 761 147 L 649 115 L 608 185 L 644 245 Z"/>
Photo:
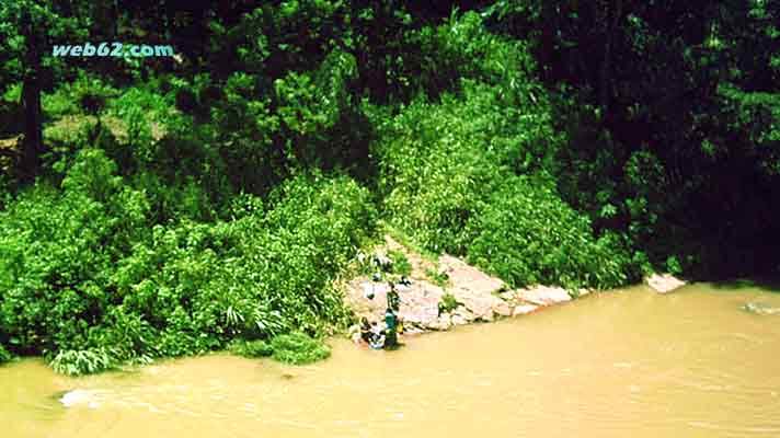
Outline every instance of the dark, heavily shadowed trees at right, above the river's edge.
<path fill-rule="evenodd" d="M 767 214 L 780 198 L 780 3 L 500 0 L 487 12 L 495 31 L 532 42 L 551 89 L 565 87 L 559 181 L 575 205 L 640 245 L 686 234 L 716 258 L 718 245 L 780 244 Z"/>

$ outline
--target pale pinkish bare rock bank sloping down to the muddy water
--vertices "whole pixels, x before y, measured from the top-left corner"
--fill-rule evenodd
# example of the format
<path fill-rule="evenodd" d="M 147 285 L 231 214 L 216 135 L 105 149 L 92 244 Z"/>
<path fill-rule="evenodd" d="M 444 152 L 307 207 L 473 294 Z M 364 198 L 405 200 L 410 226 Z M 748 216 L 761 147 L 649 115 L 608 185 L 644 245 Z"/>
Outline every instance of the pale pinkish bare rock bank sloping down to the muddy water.
<path fill-rule="evenodd" d="M 520 316 L 594 292 L 592 289 L 570 291 L 544 285 L 512 289 L 500 278 L 458 257 L 447 254 L 437 260 L 424 257 L 391 235 L 385 235 L 383 243 L 372 249 L 369 258 L 391 263 L 388 254 L 393 253 L 403 254 L 410 265 L 409 276 L 404 276 L 406 284 L 393 284 L 400 296 L 398 315 L 408 334 Z M 377 281 L 369 274 L 358 275 L 343 286 L 344 300 L 358 319 L 382 321 L 390 281 Z M 669 274 L 650 276 L 644 283 L 659 293 L 686 285 Z M 353 325 L 348 331 L 354 339 L 357 328 Z"/>

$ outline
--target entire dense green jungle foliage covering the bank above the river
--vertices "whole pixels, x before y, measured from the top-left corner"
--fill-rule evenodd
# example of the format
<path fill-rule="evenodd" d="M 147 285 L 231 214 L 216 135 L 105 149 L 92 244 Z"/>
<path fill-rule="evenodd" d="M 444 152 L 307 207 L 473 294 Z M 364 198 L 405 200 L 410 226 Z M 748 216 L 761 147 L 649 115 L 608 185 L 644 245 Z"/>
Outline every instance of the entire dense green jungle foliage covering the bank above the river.
<path fill-rule="evenodd" d="M 307 362 L 383 220 L 512 286 L 780 270 L 780 4 L 0 3 L 0 362 Z M 54 57 L 55 44 L 175 57 Z"/>

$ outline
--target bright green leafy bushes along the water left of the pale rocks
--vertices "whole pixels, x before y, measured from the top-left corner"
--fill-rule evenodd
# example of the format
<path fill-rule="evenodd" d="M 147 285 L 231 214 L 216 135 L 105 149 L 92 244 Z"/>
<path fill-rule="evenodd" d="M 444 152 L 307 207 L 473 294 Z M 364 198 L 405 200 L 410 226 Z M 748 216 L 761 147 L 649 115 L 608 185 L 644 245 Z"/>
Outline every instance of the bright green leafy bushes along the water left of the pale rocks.
<path fill-rule="evenodd" d="M 244 195 L 230 221 L 163 223 L 131 182 L 83 149 L 60 189 L 41 182 L 0 212 L 0 334 L 12 350 L 61 353 L 64 372 L 92 372 L 348 320 L 332 281 L 376 220 L 354 181 L 301 175 L 267 209 Z"/>

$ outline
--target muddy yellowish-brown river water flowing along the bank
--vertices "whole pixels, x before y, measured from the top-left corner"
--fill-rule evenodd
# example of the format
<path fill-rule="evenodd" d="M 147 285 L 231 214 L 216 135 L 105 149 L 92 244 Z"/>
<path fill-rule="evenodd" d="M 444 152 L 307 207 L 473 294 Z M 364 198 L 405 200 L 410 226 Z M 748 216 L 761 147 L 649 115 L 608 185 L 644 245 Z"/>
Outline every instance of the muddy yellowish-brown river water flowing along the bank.
<path fill-rule="evenodd" d="M 85 378 L 0 367 L 15 437 L 780 437 L 780 307 L 755 287 L 644 287 L 306 367 L 226 354 Z M 83 395 L 71 406 L 65 391 Z"/>

